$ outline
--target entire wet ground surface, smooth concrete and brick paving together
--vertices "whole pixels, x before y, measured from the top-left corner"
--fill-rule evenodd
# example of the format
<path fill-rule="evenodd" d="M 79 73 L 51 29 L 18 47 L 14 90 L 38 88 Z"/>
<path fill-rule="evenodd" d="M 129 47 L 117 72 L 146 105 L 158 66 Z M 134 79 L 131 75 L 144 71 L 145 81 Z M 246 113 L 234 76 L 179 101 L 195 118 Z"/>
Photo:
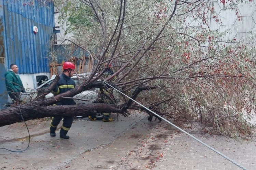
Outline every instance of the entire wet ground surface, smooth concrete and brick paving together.
<path fill-rule="evenodd" d="M 27 147 L 27 131 L 18 125 L 0 127 L 1 148 L 19 151 Z M 114 122 L 75 120 L 68 133 L 69 140 L 60 139 L 58 135 L 50 137 L 47 121 L 41 122 L 38 128 L 29 124 L 29 128 L 33 137 L 28 150 L 22 153 L 0 150 L 1 170 L 240 169 L 171 125 L 148 122 L 143 113 L 134 113 L 128 118 L 115 117 Z M 198 132 L 192 132 L 192 135 L 245 168 L 256 169 L 256 142 L 239 143 Z"/>

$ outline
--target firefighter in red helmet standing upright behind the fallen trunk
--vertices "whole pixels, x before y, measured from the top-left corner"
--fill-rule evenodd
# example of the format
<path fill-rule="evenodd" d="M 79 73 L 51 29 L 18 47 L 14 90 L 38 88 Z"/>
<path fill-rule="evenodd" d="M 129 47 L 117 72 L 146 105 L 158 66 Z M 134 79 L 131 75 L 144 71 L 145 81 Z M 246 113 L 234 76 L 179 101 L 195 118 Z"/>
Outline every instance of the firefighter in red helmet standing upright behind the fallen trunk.
<path fill-rule="evenodd" d="M 63 64 L 63 73 L 60 75 L 60 80 L 58 81 L 57 85 L 52 90 L 53 95 L 58 95 L 60 93 L 64 93 L 72 88 L 75 87 L 75 82 L 70 77 L 73 76 L 75 65 L 71 62 L 65 62 Z M 73 99 L 62 99 L 61 101 L 57 102 L 56 105 L 72 105 L 76 104 Z M 50 135 L 52 137 L 56 136 L 56 129 L 62 116 L 55 116 L 52 119 L 50 124 Z M 67 133 L 71 128 L 73 122 L 73 116 L 63 116 L 63 124 L 60 129 L 60 138 L 69 139 Z"/>

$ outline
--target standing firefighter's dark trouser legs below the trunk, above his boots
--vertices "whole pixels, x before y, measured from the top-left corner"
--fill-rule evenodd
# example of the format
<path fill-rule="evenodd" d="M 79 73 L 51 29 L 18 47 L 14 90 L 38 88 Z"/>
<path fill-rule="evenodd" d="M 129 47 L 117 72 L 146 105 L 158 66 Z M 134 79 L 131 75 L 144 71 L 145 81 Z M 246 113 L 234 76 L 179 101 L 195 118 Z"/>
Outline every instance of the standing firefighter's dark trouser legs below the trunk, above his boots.
<path fill-rule="evenodd" d="M 61 121 L 62 116 L 55 116 L 51 122 L 51 127 L 57 128 L 59 122 Z M 74 117 L 73 116 L 63 116 L 63 124 L 61 129 L 68 131 L 71 128 L 72 122 Z"/>

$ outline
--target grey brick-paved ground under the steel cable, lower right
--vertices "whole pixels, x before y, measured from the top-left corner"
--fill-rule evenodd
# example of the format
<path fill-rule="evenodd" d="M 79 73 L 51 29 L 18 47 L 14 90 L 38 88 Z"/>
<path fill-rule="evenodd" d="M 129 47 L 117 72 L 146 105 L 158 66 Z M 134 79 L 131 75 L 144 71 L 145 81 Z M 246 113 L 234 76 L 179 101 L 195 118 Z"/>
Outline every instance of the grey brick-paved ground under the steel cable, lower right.
<path fill-rule="evenodd" d="M 239 143 L 227 137 L 193 134 L 246 169 L 256 169 L 256 142 Z M 154 170 L 234 170 L 241 169 L 216 152 L 183 134 L 175 137 L 162 162 Z"/>

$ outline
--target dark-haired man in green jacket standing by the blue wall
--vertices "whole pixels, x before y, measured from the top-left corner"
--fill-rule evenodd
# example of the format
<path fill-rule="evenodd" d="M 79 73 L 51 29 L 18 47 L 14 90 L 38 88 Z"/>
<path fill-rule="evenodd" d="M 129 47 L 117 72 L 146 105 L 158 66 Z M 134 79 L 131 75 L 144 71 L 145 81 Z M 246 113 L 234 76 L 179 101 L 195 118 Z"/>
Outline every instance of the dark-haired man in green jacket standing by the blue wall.
<path fill-rule="evenodd" d="M 16 64 L 11 64 L 10 68 L 4 74 L 5 86 L 11 99 L 14 101 L 19 99 L 20 92 L 26 92 L 19 75 L 17 74 L 19 68 Z"/>

